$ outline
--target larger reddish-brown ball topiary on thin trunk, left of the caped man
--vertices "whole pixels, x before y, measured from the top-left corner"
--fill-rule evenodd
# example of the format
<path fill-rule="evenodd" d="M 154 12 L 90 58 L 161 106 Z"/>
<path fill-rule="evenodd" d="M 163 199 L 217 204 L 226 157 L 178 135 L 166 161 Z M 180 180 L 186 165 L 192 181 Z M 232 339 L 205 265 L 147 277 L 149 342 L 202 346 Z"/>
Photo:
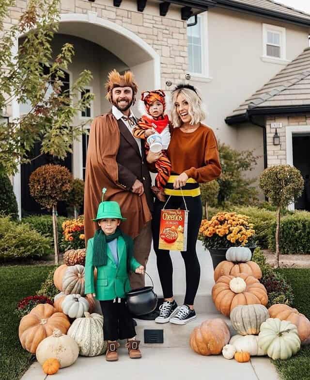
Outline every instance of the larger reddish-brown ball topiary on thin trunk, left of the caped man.
<path fill-rule="evenodd" d="M 30 194 L 43 208 L 52 210 L 55 264 L 58 265 L 57 203 L 68 198 L 71 190 L 70 171 L 61 165 L 43 165 L 31 173 Z"/>

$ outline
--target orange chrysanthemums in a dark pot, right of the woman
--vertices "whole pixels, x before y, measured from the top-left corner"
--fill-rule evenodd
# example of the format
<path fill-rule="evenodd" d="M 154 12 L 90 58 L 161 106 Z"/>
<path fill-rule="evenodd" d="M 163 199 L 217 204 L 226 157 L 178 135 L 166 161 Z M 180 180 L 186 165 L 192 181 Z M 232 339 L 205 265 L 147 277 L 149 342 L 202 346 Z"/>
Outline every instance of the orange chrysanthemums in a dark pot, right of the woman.
<path fill-rule="evenodd" d="M 230 247 L 248 247 L 253 252 L 255 231 L 249 223 L 249 216 L 237 213 L 220 212 L 210 220 L 203 219 L 200 227 L 200 239 L 210 252 L 213 267 L 225 260 Z"/>

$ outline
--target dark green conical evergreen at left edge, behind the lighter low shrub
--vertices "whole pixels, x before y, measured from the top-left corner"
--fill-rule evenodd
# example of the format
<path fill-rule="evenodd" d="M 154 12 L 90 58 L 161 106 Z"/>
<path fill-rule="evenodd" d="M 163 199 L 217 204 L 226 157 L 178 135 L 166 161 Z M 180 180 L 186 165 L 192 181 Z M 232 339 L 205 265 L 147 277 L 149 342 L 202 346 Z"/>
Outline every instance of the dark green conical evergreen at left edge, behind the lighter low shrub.
<path fill-rule="evenodd" d="M 13 219 L 18 217 L 18 207 L 13 186 L 9 177 L 0 172 L 0 212 L 11 215 Z"/>

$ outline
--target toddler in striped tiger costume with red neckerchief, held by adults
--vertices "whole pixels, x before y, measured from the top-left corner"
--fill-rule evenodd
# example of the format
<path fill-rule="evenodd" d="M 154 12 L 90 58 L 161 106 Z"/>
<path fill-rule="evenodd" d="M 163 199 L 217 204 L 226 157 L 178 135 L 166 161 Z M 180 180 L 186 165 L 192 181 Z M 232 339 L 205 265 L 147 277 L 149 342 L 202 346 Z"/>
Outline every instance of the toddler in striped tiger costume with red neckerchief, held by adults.
<path fill-rule="evenodd" d="M 137 126 L 133 129 L 133 135 L 144 139 L 145 152 L 148 153 L 150 147 L 146 139 L 152 134 L 159 134 L 162 140 L 162 156 L 155 162 L 157 176 L 155 186 L 151 189 L 155 196 L 162 202 L 166 200 L 164 187 L 170 177 L 171 163 L 167 157 L 166 150 L 170 143 L 170 120 L 165 115 L 166 96 L 162 90 L 145 91 L 141 94 L 141 118 Z M 143 112 L 144 111 L 144 112 Z M 146 112 L 145 112 L 146 111 Z M 147 113 L 147 115 L 143 115 Z"/>

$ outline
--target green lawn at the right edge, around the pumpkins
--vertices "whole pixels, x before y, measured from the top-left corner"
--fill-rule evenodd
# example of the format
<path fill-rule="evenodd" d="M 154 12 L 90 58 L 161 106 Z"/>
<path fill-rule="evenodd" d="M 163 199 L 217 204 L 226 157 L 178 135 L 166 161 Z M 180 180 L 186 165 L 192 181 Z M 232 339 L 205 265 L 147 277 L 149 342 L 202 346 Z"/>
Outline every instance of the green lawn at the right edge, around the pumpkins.
<path fill-rule="evenodd" d="M 310 319 L 310 269 L 278 269 L 293 287 L 294 307 Z M 288 360 L 273 362 L 283 380 L 310 380 L 310 346 Z"/>

